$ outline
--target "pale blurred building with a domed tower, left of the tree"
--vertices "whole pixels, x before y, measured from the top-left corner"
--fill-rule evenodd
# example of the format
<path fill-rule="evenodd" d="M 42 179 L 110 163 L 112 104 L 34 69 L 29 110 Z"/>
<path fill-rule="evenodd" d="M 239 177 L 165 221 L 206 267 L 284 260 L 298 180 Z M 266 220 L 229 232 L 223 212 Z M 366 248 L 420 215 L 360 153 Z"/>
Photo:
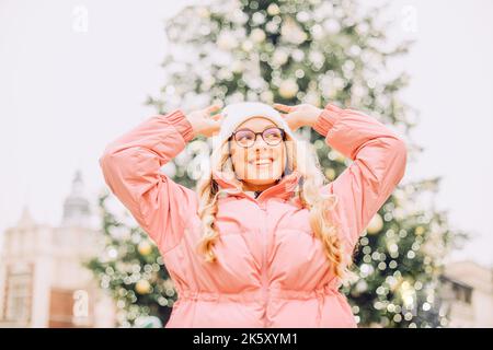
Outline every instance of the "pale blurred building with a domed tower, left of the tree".
<path fill-rule="evenodd" d="M 0 327 L 113 327 L 112 300 L 83 264 L 99 254 L 80 173 L 57 228 L 36 223 L 25 208 L 3 235 L 0 254 Z"/>

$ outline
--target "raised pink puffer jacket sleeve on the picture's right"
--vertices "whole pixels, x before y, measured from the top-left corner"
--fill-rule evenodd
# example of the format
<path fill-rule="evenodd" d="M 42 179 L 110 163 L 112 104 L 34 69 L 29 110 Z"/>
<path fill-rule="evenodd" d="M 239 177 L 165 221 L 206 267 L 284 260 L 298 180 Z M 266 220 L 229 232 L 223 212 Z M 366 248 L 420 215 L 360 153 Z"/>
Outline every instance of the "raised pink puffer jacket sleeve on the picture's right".
<path fill-rule="evenodd" d="M 359 235 L 402 179 L 405 143 L 375 117 L 328 104 L 313 129 L 353 163 L 322 191 L 339 198 L 335 214 L 346 248 L 352 253 Z"/>

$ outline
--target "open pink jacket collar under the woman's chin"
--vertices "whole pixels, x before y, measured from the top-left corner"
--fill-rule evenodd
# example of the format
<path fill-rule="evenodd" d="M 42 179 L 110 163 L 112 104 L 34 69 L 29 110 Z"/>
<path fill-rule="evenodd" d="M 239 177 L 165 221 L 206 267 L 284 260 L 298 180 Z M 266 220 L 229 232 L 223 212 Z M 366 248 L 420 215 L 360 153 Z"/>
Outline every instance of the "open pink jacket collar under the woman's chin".
<path fill-rule="evenodd" d="M 231 177 L 229 173 L 213 170 L 213 178 L 222 189 L 227 189 L 230 195 L 248 196 L 241 189 L 241 182 L 234 176 Z M 268 187 L 257 197 L 257 200 L 265 199 L 267 197 L 280 197 L 287 199 L 293 196 L 297 186 L 302 178 L 298 171 L 293 171 L 290 174 L 283 176 L 283 178 L 275 185 Z M 248 196 L 249 197 L 249 196 Z"/>

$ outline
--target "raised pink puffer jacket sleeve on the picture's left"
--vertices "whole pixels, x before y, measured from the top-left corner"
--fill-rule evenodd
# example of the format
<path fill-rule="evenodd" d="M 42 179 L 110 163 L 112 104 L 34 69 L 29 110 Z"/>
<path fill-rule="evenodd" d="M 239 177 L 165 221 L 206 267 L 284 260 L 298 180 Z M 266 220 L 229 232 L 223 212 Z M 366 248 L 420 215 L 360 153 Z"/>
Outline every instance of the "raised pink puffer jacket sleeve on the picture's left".
<path fill-rule="evenodd" d="M 182 212 L 196 212 L 196 192 L 160 172 L 193 139 L 182 110 L 157 115 L 111 142 L 99 162 L 112 192 L 163 250 L 183 234 Z"/>

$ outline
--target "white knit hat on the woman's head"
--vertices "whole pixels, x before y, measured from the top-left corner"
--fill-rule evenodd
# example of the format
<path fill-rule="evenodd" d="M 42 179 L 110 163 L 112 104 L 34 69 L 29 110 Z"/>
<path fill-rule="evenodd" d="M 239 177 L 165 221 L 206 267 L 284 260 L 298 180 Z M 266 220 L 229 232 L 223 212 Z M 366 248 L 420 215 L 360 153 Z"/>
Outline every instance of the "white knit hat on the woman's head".
<path fill-rule="evenodd" d="M 229 104 L 222 109 L 221 115 L 223 116 L 223 119 L 221 121 L 217 144 L 222 144 L 222 142 L 234 132 L 238 126 L 255 116 L 270 119 L 277 125 L 277 127 L 284 129 L 290 138 L 296 139 L 295 133 L 289 128 L 286 120 L 284 120 L 280 113 L 261 102 L 239 102 Z"/>

